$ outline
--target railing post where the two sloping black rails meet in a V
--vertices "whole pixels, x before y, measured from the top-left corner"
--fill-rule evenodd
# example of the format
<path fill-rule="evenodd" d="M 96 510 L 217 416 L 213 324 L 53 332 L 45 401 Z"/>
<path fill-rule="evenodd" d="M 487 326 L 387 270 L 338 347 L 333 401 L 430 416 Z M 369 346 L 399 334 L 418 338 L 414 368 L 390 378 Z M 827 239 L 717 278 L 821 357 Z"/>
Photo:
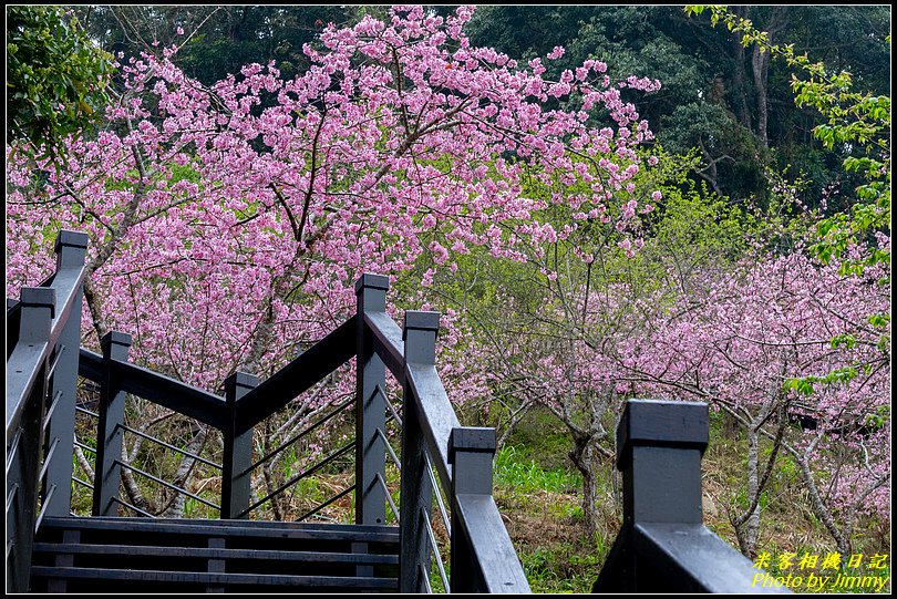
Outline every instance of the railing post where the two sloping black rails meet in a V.
<path fill-rule="evenodd" d="M 237 401 L 258 386 L 258 376 L 246 372 L 235 372 L 225 380 L 227 402 L 227 428 L 224 435 L 224 459 L 221 464 L 221 519 L 248 518 L 243 514 L 249 508 L 251 496 L 252 427 L 241 427 L 236 421 Z M 243 514 L 243 516 L 240 516 Z"/>

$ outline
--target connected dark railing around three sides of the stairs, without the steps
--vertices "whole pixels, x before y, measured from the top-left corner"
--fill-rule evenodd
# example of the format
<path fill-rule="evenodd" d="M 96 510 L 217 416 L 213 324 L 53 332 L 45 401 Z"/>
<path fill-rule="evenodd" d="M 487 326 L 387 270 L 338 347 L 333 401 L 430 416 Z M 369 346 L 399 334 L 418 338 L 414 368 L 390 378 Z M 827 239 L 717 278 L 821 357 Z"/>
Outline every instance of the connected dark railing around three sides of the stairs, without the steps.
<path fill-rule="evenodd" d="M 8 350 L 7 361 L 7 519 L 12 523 L 7 543 L 7 568 L 12 575 L 8 577 L 9 590 L 27 589 L 30 547 L 40 518 L 44 514 L 69 515 L 76 443 L 82 451 L 95 454 L 93 482 L 75 481 L 92 487 L 94 516 L 115 516 L 122 510 L 153 516 L 121 496 L 123 469 L 205 503 L 219 510 L 223 518 L 248 518 L 252 509 L 290 484 L 332 459 L 354 454 L 355 483 L 324 505 L 354 490 L 358 524 L 383 525 L 388 520 L 386 507 L 394 512 L 402 539 L 402 590 L 429 590 L 435 565 L 445 590 L 529 591 L 492 498 L 495 432 L 461 426 L 436 373 L 437 313 L 408 312 L 404 330 L 400 329 L 385 312 L 388 279 L 364 275 L 357 283 L 355 316 L 261 383 L 248 373 L 233 374 L 225 381 L 221 397 L 130 363 L 131 337 L 126 333 L 106 334 L 101 340 L 102 354 L 85 349 L 74 351 L 85 248 L 85 236 L 64 231 L 58 245 L 56 273 L 43 287 L 24 289 L 21 301 L 8 300 L 7 319 L 12 323 L 8 344 L 14 345 Z M 254 426 L 352 358 L 358 364 L 357 396 L 336 406 L 275 453 L 347 410 L 354 411 L 355 438 L 267 497 L 252 502 L 251 473 L 271 457 L 269 454 L 252 462 Z M 400 409 L 386 397 L 388 370 L 403 389 Z M 99 389 L 96 412 L 76 405 L 78 375 Z M 128 395 L 220 431 L 221 464 L 127 426 L 124 414 Z M 74 440 L 76 410 L 95 421 L 95 447 Z M 390 422 L 401 425 L 401 461 L 390 445 Z M 47 435 L 42 435 L 44 428 Z M 220 505 L 127 463 L 122 454 L 125 434 L 143 436 L 220 468 Z M 44 436 L 52 442 L 44 443 Z M 386 485 L 386 457 L 394 458 L 401 471 L 398 503 Z M 434 499 L 445 530 L 451 533 L 451 585 L 431 524 Z"/>

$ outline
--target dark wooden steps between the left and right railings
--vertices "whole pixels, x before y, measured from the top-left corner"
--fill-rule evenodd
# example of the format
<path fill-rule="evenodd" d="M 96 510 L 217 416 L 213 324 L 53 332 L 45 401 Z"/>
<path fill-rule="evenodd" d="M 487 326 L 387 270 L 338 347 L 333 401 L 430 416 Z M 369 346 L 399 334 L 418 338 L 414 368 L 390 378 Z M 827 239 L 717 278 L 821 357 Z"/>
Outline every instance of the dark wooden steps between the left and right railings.
<path fill-rule="evenodd" d="M 398 576 L 398 527 L 49 517 L 31 591 L 383 592 Z"/>

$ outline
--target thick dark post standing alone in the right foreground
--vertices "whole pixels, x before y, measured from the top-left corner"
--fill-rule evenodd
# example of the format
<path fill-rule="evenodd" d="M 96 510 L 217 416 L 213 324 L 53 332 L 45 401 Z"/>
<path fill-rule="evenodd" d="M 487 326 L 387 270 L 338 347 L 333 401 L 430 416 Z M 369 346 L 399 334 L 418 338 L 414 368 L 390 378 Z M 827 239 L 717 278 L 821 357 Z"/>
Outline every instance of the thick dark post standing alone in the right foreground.
<path fill-rule="evenodd" d="M 637 524 L 701 526 L 701 455 L 709 442 L 705 403 L 629 400 L 617 426 L 623 523 L 594 592 L 669 590 L 633 551 Z"/>

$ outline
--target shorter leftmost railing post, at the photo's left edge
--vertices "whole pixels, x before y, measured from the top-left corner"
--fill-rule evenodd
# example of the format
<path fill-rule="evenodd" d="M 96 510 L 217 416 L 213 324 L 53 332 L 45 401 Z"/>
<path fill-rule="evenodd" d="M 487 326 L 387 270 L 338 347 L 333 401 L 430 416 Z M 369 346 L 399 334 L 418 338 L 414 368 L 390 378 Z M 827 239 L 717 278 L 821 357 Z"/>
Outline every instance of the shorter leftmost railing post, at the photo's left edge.
<path fill-rule="evenodd" d="M 55 291 L 25 287 L 21 293 L 19 343 L 39 348 L 50 340 Z M 16 364 L 7 364 L 16 374 Z M 41 368 L 22 410 L 19 428 L 7 431 L 7 591 L 28 592 L 34 525 L 38 517 L 38 475 L 43 446 L 47 364 Z"/>

